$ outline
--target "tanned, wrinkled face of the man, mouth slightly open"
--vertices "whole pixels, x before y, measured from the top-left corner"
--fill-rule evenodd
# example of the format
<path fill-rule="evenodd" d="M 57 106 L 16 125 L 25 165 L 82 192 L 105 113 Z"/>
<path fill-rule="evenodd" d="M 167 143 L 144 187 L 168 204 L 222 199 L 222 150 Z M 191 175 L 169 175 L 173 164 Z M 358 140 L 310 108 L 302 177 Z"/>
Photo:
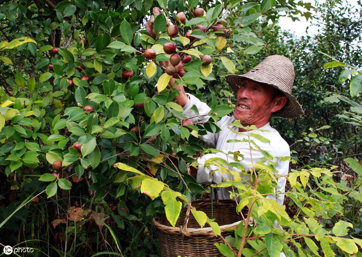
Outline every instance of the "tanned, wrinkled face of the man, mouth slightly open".
<path fill-rule="evenodd" d="M 272 86 L 245 79 L 236 94 L 235 119 L 243 125 L 264 126 L 271 114 L 287 102 L 285 96 L 274 97 L 276 90 Z"/>

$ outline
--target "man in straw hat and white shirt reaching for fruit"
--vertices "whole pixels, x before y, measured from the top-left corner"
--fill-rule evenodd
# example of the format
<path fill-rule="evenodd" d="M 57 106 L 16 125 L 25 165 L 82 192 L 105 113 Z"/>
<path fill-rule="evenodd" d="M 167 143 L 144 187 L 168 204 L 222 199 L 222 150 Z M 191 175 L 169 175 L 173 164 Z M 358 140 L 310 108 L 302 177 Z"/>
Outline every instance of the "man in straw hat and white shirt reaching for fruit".
<path fill-rule="evenodd" d="M 271 115 L 279 116 L 283 118 L 291 118 L 302 115 L 303 109 L 294 96 L 291 95 L 292 85 L 294 82 L 294 66 L 291 61 L 280 55 L 272 55 L 266 57 L 260 64 L 251 69 L 249 72 L 243 75 L 227 75 L 226 81 L 230 85 L 231 89 L 236 93 L 236 107 L 234 116 L 224 116 L 217 125 L 221 131 L 212 134 L 207 133 L 202 136 L 202 140 L 205 141 L 210 147 L 228 151 L 239 151 L 244 155 L 244 159 L 240 160 L 245 168 L 245 171 L 252 169 L 251 164 L 256 163 L 258 159 L 263 158 L 264 155 L 253 147 L 251 150 L 248 142 L 234 142 L 227 143 L 229 139 L 243 140 L 248 139 L 247 133 L 241 128 L 231 126 L 235 120 L 240 120 L 240 123 L 244 126 L 256 125 L 260 130 L 254 130 L 253 133 L 260 134 L 270 140 L 270 144 L 261 142 L 256 138 L 252 138 L 253 141 L 265 151 L 268 151 L 273 156 L 273 162 L 277 162 L 276 170 L 279 175 L 287 175 L 289 160 L 281 160 L 281 157 L 290 157 L 289 145 L 277 130 L 273 129 L 269 125 L 269 119 Z M 195 105 L 202 116 L 199 120 L 198 117 L 190 119 L 193 123 L 205 122 L 209 119 L 207 113 L 210 112 L 210 107 L 206 103 L 201 102 L 193 95 L 186 94 L 183 86 L 173 85 L 178 89 L 180 96 L 176 97 L 176 103 L 180 104 L 184 108 L 184 115 L 186 118 L 195 117 L 194 111 L 191 107 Z M 232 132 L 228 127 L 231 127 L 234 131 L 245 132 L 243 134 Z M 265 130 L 268 130 L 266 132 Z M 217 170 L 216 166 L 210 166 L 206 168 L 203 164 L 206 160 L 220 157 L 228 159 L 234 162 L 233 155 L 226 158 L 226 154 L 206 154 L 198 159 L 198 171 L 197 181 L 201 184 L 220 183 L 221 181 L 230 180 L 230 175 L 224 174 L 224 178 L 220 171 L 212 173 L 213 170 Z M 232 168 L 233 169 L 233 168 Z M 236 170 L 236 169 L 234 169 Z M 243 176 L 243 179 L 250 183 L 250 175 Z M 285 177 L 278 178 L 278 187 L 274 191 L 285 192 Z M 218 188 L 218 197 L 220 199 L 230 199 L 230 188 Z M 284 194 L 269 195 L 269 199 L 277 201 L 280 205 L 283 205 Z"/>

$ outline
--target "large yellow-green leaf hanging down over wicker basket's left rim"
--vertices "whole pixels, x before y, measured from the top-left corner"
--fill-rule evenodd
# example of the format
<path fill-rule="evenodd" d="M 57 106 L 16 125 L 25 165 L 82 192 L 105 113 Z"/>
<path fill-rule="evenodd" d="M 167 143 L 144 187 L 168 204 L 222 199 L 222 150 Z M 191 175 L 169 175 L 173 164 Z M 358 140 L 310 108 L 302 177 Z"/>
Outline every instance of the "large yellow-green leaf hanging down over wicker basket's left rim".
<path fill-rule="evenodd" d="M 176 200 L 177 196 L 180 196 L 180 193 L 171 190 L 163 190 L 161 193 L 161 198 L 165 205 L 166 218 L 173 227 L 175 227 L 182 207 L 181 202 Z"/>

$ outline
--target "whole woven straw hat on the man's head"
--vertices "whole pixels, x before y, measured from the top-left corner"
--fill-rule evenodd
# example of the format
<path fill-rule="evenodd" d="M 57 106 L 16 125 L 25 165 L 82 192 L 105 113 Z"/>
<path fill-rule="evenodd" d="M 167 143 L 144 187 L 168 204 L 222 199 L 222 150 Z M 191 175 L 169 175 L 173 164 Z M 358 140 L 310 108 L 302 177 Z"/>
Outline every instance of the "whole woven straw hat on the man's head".
<path fill-rule="evenodd" d="M 302 106 L 300 106 L 296 98 L 292 95 L 294 66 L 285 56 L 268 56 L 247 73 L 243 75 L 230 74 L 225 78 L 226 82 L 235 93 L 239 90 L 240 83 L 244 78 L 268 84 L 281 91 L 288 98 L 288 102 L 281 110 L 274 112 L 274 116 L 293 118 L 304 113 Z"/>

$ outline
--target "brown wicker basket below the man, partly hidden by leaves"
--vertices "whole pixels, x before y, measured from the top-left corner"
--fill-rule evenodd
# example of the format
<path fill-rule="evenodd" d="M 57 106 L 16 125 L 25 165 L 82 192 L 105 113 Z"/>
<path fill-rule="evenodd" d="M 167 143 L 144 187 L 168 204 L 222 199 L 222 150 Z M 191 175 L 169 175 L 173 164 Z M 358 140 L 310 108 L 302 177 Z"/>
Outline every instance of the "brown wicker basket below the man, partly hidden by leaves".
<path fill-rule="evenodd" d="M 193 201 L 191 205 L 211 218 L 211 200 Z M 219 200 L 217 205 L 214 205 L 213 218 L 219 224 L 223 237 L 231 234 L 226 231 L 226 228 L 236 228 L 242 221 L 241 215 L 236 213 L 235 207 L 236 203 L 232 200 Z M 220 236 L 215 237 L 212 228 L 207 227 L 207 223 L 200 228 L 192 214 L 188 215 L 189 219 L 185 219 L 187 210 L 187 208 L 181 210 L 182 219 L 177 220 L 175 227 L 171 226 L 165 214 L 156 215 L 153 218 L 153 225 L 160 241 L 161 256 L 223 256 L 214 245 L 214 243 L 223 243 L 223 239 Z M 186 226 L 182 228 L 184 222 L 186 222 Z M 249 224 L 252 222 L 250 219 Z"/>

